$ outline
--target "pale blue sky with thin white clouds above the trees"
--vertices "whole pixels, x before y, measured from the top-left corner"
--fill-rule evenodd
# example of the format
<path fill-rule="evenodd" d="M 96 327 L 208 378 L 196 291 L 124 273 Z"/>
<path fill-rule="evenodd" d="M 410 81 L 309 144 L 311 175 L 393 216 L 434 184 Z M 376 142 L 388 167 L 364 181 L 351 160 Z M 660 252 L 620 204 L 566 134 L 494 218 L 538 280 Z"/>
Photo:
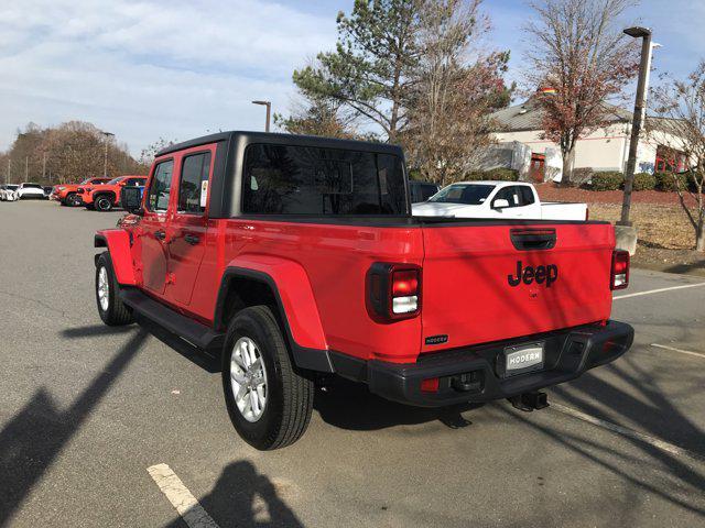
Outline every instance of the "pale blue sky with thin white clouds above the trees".
<path fill-rule="evenodd" d="M 590 0 L 586 0 L 590 1 Z M 0 151 L 29 122 L 89 121 L 138 155 L 160 138 L 262 130 L 271 100 L 286 113 L 292 72 L 335 46 L 352 0 L 7 0 L 0 6 Z M 527 47 L 523 0 L 485 0 L 485 46 Z M 654 68 L 685 76 L 705 58 L 705 2 L 643 0 L 625 23 L 653 28 Z"/>

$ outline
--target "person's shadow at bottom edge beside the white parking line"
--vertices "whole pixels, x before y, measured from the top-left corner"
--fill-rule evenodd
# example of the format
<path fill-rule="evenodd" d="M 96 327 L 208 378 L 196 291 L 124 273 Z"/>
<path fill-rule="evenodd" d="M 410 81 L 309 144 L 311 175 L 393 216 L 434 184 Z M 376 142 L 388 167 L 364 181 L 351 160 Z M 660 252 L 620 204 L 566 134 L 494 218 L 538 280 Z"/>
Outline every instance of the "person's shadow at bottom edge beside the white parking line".
<path fill-rule="evenodd" d="M 280 497 L 276 485 L 248 461 L 229 464 L 199 503 L 220 528 L 303 527 Z M 181 517 L 166 525 L 169 528 L 184 526 Z"/>

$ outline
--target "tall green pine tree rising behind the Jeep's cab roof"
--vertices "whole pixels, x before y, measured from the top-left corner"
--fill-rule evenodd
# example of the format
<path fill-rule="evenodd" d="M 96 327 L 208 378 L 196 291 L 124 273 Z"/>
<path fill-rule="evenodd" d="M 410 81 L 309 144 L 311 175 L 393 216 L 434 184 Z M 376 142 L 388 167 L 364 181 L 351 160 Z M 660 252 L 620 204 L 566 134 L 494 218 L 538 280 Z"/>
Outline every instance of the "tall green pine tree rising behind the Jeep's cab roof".
<path fill-rule="evenodd" d="M 336 51 L 295 70 L 294 84 L 305 97 L 336 101 L 395 142 L 419 61 L 415 8 L 416 0 L 356 0 L 350 16 L 338 13 Z"/>

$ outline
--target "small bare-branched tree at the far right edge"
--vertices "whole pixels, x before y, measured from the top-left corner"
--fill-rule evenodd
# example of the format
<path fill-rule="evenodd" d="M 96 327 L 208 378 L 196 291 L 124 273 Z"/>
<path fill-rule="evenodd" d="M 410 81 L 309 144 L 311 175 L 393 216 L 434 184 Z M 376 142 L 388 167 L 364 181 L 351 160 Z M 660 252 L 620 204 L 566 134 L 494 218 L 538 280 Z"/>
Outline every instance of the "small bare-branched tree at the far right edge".
<path fill-rule="evenodd" d="M 681 206 L 695 231 L 695 250 L 705 252 L 705 61 L 685 80 L 664 77 L 653 90 L 657 112 L 648 133 L 684 155 L 685 175 L 673 175 Z"/>

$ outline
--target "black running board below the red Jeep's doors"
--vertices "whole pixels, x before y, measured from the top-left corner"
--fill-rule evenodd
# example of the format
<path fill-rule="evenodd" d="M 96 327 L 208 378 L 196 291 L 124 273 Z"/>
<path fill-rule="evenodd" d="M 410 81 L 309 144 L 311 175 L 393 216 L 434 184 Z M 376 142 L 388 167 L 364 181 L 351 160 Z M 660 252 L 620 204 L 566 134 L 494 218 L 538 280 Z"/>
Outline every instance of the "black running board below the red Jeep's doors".
<path fill-rule="evenodd" d="M 167 306 L 158 302 L 135 288 L 120 290 L 122 302 L 140 316 L 178 336 L 198 349 L 209 350 L 223 346 L 225 334 L 213 328 L 182 316 Z"/>

